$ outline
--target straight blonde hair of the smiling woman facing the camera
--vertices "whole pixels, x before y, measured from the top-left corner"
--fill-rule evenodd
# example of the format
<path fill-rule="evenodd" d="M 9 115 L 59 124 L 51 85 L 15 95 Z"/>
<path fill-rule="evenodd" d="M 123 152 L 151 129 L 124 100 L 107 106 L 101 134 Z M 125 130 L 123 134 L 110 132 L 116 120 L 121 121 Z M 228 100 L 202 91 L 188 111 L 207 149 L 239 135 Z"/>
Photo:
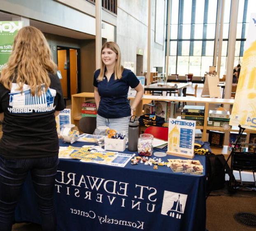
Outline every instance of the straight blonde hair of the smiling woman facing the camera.
<path fill-rule="evenodd" d="M 115 64 L 115 68 L 114 68 L 114 76 L 115 76 L 115 80 L 116 79 L 122 79 L 123 66 L 121 65 L 121 51 L 120 51 L 119 46 L 115 42 L 105 42 L 102 45 L 101 53 L 102 53 L 102 50 L 105 49 L 105 48 L 109 48 L 112 51 L 114 51 L 114 53 L 116 53 L 117 59 L 116 59 L 116 64 Z M 105 74 L 105 67 L 106 67 L 106 65 L 101 60 L 100 74 L 98 76 L 98 81 L 103 80 L 103 77 L 104 77 L 104 74 Z"/>

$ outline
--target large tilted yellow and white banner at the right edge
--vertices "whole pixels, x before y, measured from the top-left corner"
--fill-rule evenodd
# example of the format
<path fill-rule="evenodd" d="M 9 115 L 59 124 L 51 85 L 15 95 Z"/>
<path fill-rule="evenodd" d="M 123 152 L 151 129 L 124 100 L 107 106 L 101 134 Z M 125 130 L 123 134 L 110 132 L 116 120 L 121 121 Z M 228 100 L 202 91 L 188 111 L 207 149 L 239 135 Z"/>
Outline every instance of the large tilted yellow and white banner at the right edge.
<path fill-rule="evenodd" d="M 229 125 L 256 130 L 256 13 L 248 31 Z"/>

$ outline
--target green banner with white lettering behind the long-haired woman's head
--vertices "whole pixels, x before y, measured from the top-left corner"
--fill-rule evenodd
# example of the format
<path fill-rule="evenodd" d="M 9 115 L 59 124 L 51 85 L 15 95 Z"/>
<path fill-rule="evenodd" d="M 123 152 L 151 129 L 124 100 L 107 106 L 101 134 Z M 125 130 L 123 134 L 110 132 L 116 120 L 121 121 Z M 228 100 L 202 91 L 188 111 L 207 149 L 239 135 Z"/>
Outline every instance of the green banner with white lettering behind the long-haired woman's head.
<path fill-rule="evenodd" d="M 5 68 L 12 53 L 14 37 L 23 26 L 22 21 L 0 22 L 0 71 Z"/>

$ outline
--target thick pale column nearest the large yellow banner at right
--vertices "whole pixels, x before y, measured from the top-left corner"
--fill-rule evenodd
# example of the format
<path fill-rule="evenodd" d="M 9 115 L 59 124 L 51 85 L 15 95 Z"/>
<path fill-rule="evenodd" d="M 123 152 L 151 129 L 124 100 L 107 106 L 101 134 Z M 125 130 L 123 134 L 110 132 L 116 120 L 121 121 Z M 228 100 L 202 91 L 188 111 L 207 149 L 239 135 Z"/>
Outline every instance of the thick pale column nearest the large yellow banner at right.
<path fill-rule="evenodd" d="M 229 25 L 229 33 L 228 33 L 227 72 L 226 72 L 226 85 L 225 85 L 225 97 L 224 97 L 225 99 L 230 99 L 231 97 L 234 58 L 235 58 L 235 39 L 236 39 L 236 29 L 237 29 L 238 4 L 239 4 L 239 0 L 231 1 L 230 25 Z M 229 110 L 230 104 L 225 104 L 224 108 L 226 110 Z"/>

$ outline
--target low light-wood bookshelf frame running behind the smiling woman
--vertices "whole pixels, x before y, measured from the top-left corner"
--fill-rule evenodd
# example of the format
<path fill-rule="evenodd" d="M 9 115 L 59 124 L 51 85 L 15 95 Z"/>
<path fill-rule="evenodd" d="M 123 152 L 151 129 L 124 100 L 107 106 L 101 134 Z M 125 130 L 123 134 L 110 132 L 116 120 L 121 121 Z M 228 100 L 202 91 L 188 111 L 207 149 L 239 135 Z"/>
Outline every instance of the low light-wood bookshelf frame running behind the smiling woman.
<path fill-rule="evenodd" d="M 81 119 L 81 107 L 82 103 L 87 99 L 94 99 L 94 94 L 91 92 L 84 92 L 72 95 L 72 123 L 78 125 L 79 120 Z M 134 97 L 128 97 L 128 99 L 133 100 Z M 233 104 L 234 99 L 217 99 L 217 98 L 203 98 L 203 97 L 178 97 L 178 96 L 159 96 L 159 95 L 143 95 L 143 98 L 140 104 L 137 106 L 135 111 L 136 116 L 142 115 L 143 104 L 148 103 L 151 100 L 155 101 L 171 101 L 171 102 L 187 102 L 187 103 L 201 103 L 205 105 L 205 117 L 204 117 L 204 125 L 203 126 L 196 126 L 196 129 L 202 130 L 202 141 L 207 140 L 207 130 L 215 130 L 215 131 L 222 131 L 222 132 L 238 132 L 238 127 L 231 127 L 228 130 L 224 130 L 222 127 L 214 127 L 214 126 L 207 126 L 207 118 L 209 114 L 209 105 L 210 104 Z M 250 133 L 256 133 L 256 131 L 245 129 L 247 133 L 247 140 L 249 140 Z"/>

